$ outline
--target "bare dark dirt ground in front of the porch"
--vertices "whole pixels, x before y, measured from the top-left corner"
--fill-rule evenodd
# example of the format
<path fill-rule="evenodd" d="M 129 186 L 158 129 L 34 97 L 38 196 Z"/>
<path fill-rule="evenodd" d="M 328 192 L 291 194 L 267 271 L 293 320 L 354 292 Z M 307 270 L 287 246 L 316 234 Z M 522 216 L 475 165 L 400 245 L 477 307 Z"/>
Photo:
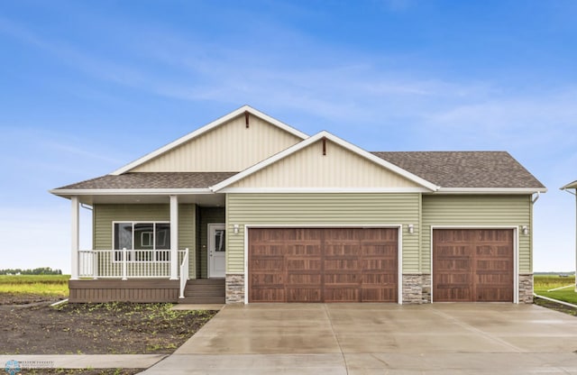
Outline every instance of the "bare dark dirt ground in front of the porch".
<path fill-rule="evenodd" d="M 0 353 L 171 353 L 216 314 L 215 311 L 173 311 L 169 304 L 63 304 L 51 307 L 50 304 L 57 300 L 0 295 Z M 23 370 L 22 373 L 126 375 L 140 370 L 37 371 Z"/>

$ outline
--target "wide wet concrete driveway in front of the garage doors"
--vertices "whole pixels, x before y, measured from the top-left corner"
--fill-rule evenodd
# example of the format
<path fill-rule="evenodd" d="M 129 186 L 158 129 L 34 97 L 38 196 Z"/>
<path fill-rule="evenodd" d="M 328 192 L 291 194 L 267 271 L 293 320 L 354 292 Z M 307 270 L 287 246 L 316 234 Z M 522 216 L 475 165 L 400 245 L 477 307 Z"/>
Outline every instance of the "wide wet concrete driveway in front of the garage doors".
<path fill-rule="evenodd" d="M 577 374 L 577 318 L 513 304 L 225 306 L 144 374 Z"/>

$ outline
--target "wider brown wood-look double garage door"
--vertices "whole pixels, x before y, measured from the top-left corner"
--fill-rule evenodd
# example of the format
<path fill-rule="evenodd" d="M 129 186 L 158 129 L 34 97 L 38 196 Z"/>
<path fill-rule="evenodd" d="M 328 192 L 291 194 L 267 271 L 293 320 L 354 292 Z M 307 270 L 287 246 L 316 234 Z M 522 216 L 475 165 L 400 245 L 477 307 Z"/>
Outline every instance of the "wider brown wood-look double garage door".
<path fill-rule="evenodd" d="M 396 228 L 249 230 L 249 302 L 396 302 Z"/>

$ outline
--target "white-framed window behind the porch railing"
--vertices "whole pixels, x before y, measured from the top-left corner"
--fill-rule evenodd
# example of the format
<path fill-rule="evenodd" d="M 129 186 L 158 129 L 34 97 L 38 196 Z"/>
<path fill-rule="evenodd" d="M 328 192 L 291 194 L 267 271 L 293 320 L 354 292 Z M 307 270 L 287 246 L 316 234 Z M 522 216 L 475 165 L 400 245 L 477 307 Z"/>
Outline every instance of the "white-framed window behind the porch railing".
<path fill-rule="evenodd" d="M 114 223 L 114 261 L 170 261 L 169 223 Z"/>

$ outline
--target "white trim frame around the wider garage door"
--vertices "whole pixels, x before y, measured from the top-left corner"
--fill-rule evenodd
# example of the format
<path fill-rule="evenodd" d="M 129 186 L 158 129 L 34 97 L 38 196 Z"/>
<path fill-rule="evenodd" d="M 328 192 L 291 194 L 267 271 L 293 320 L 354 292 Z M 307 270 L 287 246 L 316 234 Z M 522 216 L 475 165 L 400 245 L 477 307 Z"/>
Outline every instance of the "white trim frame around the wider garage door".
<path fill-rule="evenodd" d="M 244 225 L 244 304 L 249 304 L 249 230 L 274 228 L 395 228 L 398 233 L 398 305 L 403 304 L 403 224 L 245 224 Z M 234 234 L 231 234 L 234 235 Z"/>

